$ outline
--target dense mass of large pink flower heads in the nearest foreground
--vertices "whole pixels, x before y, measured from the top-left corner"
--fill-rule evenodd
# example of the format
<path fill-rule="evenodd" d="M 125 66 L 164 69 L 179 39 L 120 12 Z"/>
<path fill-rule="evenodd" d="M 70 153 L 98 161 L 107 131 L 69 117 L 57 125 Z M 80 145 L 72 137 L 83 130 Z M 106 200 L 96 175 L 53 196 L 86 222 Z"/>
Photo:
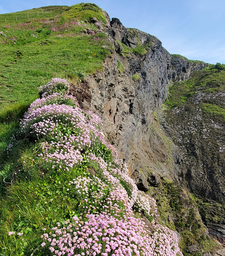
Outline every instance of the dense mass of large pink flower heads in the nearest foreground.
<path fill-rule="evenodd" d="M 56 255 L 103 255 L 103 256 L 182 256 L 176 234 L 161 225 L 150 233 L 141 219 L 86 214 L 83 223 L 77 216 L 66 226 L 60 223 L 49 234 L 43 234 L 43 246 L 49 245 Z"/>

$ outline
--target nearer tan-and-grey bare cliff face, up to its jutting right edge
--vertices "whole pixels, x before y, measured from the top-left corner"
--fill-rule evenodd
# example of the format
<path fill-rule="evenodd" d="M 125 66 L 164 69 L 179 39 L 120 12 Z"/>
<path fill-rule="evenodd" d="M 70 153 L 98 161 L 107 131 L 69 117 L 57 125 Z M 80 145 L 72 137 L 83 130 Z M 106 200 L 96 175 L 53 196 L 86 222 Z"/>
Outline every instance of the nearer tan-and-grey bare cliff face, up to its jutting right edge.
<path fill-rule="evenodd" d="M 156 37 L 138 30 L 128 31 L 118 19 L 112 19 L 108 33 L 115 52 L 107 58 L 103 72 L 86 79 L 92 95 L 91 107 L 104 120 L 107 139 L 118 147 L 119 156 L 143 187 L 153 182 L 151 178 L 144 181 L 143 176 L 152 169 L 174 178 L 172 167 L 169 171 L 164 167 L 167 152 L 163 140 L 160 135 L 157 139 L 149 135 L 153 112 L 167 96 L 170 54 Z M 130 52 L 126 52 L 127 48 Z M 119 72 L 118 63 L 124 67 L 123 72 Z M 157 152 L 152 149 L 153 144 Z"/>

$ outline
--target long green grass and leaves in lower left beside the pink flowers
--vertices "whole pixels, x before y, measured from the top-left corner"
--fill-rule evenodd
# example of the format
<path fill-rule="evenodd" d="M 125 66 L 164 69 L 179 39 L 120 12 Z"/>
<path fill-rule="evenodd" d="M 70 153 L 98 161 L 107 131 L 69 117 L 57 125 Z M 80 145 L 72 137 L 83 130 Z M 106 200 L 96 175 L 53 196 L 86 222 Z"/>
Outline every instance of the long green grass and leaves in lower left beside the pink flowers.
<path fill-rule="evenodd" d="M 70 104 L 70 101 L 67 103 Z M 26 105 L 20 105 L 16 109 L 8 108 L 6 114 L 0 113 L 0 149 L 8 145 L 7 140 L 9 141 L 11 134 L 18 130 L 17 120 L 25 110 Z M 64 131 L 63 127 L 59 126 L 61 132 Z M 6 156 L 1 158 L 0 163 L 0 248 L 4 256 L 51 255 L 48 248 L 41 246 L 40 236 L 44 233 L 43 228 L 50 229 L 56 222 L 71 219 L 74 215 L 82 216 L 89 205 L 82 195 L 76 193 L 76 189 L 73 190 L 73 187 L 69 186 L 68 181 L 73 181 L 78 176 L 91 176 L 89 167 L 101 177 L 98 164 L 85 161 L 85 155 L 82 164 L 71 167 L 69 172 L 58 168 L 54 170 L 52 163 L 41 160 L 38 153 L 41 152 L 42 143 L 55 138 L 34 139 L 29 137 L 29 134 L 26 135 L 16 136 L 17 144 L 13 146 L 10 157 L 2 151 Z M 112 161 L 112 152 L 100 140 L 93 142 L 93 146 L 95 155 L 105 161 Z M 95 187 L 92 184 L 90 186 L 93 192 Z M 105 197 L 108 196 L 109 190 L 110 184 L 103 193 Z M 10 231 L 23 233 L 23 236 L 8 236 Z"/>

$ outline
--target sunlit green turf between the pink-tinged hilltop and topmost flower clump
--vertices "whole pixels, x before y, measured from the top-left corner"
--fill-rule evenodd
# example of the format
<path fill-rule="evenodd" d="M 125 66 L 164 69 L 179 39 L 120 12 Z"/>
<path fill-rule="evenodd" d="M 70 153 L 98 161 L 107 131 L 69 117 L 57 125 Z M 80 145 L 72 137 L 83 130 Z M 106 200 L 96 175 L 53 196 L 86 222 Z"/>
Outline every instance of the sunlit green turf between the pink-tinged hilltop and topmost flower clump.
<path fill-rule="evenodd" d="M 57 37 L 27 45 L 8 46 L 0 52 L 0 105 L 37 97 L 37 85 L 49 81 L 53 73 L 58 77 L 78 80 L 80 74 L 88 75 L 102 69 L 109 54 L 105 34 L 94 36 Z M 109 46 L 110 47 L 110 46 Z M 18 57 L 19 56 L 19 57 Z"/>

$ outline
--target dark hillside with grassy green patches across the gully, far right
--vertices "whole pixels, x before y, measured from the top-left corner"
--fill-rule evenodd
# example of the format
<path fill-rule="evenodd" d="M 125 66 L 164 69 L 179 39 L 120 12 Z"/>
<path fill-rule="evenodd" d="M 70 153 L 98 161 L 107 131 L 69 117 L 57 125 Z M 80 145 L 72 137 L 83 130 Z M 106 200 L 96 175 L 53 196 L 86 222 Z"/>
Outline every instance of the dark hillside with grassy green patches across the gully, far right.
<path fill-rule="evenodd" d="M 193 76 L 188 84 L 173 85 L 168 99 L 172 104 L 164 112 L 167 136 L 178 146 L 181 184 L 198 196 L 197 203 L 209 233 L 223 244 L 224 81 L 225 70 L 211 68 Z M 181 87 L 185 89 L 182 91 Z M 175 92 L 182 93 L 178 96 Z"/>

